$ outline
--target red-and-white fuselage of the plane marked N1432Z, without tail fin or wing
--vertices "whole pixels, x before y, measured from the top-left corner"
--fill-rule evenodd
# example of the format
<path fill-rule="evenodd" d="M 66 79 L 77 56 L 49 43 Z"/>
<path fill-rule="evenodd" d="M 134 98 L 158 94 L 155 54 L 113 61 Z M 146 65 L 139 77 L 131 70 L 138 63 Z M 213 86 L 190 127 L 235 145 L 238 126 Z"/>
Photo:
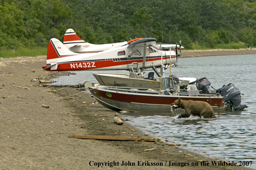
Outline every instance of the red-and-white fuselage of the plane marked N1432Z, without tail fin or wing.
<path fill-rule="evenodd" d="M 58 47 L 55 47 L 58 48 Z M 163 53 L 163 54 L 162 54 Z M 162 57 L 161 57 L 162 55 Z M 133 62 L 143 67 L 144 46 L 123 46 L 108 51 L 93 54 L 77 54 L 60 56 L 53 59 L 58 64 L 56 70 L 48 68 L 49 71 L 75 71 L 75 70 L 129 70 Z M 170 51 L 160 51 L 147 47 L 145 57 L 145 68 L 160 67 L 161 58 L 163 64 L 170 64 Z M 171 51 L 172 64 L 176 62 L 175 51 Z M 47 64 L 51 64 L 47 60 Z"/>

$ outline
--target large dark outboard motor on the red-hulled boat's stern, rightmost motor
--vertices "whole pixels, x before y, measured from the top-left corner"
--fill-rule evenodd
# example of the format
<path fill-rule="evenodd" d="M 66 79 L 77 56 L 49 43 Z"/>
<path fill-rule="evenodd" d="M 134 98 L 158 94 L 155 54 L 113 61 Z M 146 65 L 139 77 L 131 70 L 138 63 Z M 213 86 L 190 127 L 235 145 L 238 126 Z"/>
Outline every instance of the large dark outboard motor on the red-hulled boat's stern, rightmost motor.
<path fill-rule="evenodd" d="M 228 85 L 225 85 L 220 94 L 221 96 L 224 96 L 223 102 L 230 101 L 234 106 L 234 110 L 240 111 L 247 108 L 245 104 L 241 104 L 241 93 L 234 84 L 229 83 Z"/>

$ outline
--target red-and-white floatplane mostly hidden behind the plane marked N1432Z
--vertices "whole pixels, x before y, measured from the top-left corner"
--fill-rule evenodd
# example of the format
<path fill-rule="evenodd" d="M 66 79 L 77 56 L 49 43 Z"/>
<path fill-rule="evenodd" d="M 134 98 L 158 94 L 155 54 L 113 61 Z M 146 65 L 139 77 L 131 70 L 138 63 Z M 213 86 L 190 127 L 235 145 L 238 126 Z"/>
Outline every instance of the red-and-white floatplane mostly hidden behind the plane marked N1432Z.
<path fill-rule="evenodd" d="M 111 44 L 91 44 L 85 42 L 83 39 L 81 39 L 73 29 L 69 28 L 66 30 L 66 33 L 64 35 L 63 44 L 66 46 L 67 49 L 69 49 L 72 52 L 75 53 L 96 53 L 96 52 L 102 52 L 111 49 L 112 47 L 118 48 L 125 44 L 132 43 L 134 41 L 137 41 L 142 38 L 135 38 L 131 39 L 130 41 L 125 41 L 122 43 L 111 43 Z M 158 43 L 157 46 L 160 47 L 174 47 L 175 44 L 160 44 Z M 180 46 L 177 46 L 178 50 L 180 49 Z M 181 46 L 181 49 L 184 47 Z"/>

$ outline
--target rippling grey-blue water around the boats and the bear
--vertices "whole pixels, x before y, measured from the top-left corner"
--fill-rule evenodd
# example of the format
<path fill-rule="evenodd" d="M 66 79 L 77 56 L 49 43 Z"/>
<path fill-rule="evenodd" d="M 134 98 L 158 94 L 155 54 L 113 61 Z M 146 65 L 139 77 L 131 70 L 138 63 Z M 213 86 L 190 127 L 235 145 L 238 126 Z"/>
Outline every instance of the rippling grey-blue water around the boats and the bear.
<path fill-rule="evenodd" d="M 130 124 L 145 133 L 171 142 L 184 149 L 212 158 L 230 161 L 253 161 L 256 169 L 256 55 L 229 55 L 199 58 L 178 58 L 172 74 L 178 77 L 206 77 L 211 86 L 221 88 L 233 83 L 240 89 L 242 104 L 248 108 L 240 112 L 225 112 L 215 120 L 190 117 L 176 119 L 162 113 L 128 113 L 123 115 Z M 127 71 L 80 71 L 77 75 L 59 78 L 59 84 L 71 85 L 80 81 L 97 83 L 91 73 L 128 73 Z M 170 70 L 165 70 L 169 76 Z M 86 77 L 84 79 L 84 77 Z M 57 81 L 57 80 L 56 80 Z"/>

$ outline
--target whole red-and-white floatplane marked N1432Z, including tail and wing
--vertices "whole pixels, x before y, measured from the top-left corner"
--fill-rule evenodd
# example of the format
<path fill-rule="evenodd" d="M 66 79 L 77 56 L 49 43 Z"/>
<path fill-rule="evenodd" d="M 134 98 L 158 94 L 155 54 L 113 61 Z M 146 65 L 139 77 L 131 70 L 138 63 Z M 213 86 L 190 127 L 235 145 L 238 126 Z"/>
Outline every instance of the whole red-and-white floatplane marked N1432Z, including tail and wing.
<path fill-rule="evenodd" d="M 103 52 L 79 54 L 53 38 L 48 45 L 47 65 L 42 68 L 48 71 L 131 70 L 132 63 L 137 62 L 143 71 L 177 62 L 178 48 L 163 48 L 155 43 L 154 38 L 144 38 Z"/>

